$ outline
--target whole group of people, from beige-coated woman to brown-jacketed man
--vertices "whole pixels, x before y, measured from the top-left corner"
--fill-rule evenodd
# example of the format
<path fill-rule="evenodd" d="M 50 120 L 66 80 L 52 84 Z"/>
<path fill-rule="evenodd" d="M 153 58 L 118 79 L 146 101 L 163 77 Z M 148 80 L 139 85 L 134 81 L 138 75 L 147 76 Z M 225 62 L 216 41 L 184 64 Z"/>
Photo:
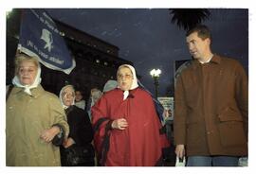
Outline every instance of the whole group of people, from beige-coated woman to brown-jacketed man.
<path fill-rule="evenodd" d="M 247 74 L 213 54 L 211 40 L 207 26 L 187 32 L 192 61 L 175 82 L 174 142 L 166 111 L 132 65 L 88 99 L 71 84 L 58 97 L 40 84 L 38 59 L 18 53 L 6 95 L 6 165 L 161 166 L 172 143 L 187 166 L 237 166 L 247 156 Z"/>

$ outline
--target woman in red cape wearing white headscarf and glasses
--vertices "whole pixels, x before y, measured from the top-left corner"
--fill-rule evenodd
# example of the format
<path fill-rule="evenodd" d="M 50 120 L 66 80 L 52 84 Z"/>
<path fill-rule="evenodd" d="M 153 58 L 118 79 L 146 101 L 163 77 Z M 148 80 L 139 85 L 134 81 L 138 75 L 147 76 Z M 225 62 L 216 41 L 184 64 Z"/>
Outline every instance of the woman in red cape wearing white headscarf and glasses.
<path fill-rule="evenodd" d="M 136 71 L 119 66 L 118 88 L 106 92 L 92 108 L 94 143 L 101 165 L 161 165 L 162 148 L 168 145 L 160 134 L 161 123 L 152 97 L 138 88 Z"/>

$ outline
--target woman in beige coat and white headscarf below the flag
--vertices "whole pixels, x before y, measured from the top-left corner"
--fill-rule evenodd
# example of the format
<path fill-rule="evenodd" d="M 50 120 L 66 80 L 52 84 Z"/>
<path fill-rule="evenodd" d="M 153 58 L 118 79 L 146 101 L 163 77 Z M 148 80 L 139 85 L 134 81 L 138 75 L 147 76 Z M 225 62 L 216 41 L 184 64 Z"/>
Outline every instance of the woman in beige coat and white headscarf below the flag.
<path fill-rule="evenodd" d="M 40 74 L 36 58 L 16 56 L 14 86 L 6 105 L 8 166 L 61 165 L 60 150 L 55 145 L 62 144 L 69 129 L 61 102 L 43 89 Z"/>

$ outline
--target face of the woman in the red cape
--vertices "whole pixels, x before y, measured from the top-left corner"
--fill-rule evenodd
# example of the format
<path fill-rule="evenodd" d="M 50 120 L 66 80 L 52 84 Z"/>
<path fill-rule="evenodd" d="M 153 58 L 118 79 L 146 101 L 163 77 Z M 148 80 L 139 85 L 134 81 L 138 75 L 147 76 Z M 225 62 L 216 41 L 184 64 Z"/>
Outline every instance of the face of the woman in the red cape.
<path fill-rule="evenodd" d="M 133 74 L 132 71 L 127 67 L 122 67 L 119 69 L 118 82 L 119 87 L 122 91 L 130 90 L 133 84 Z"/>

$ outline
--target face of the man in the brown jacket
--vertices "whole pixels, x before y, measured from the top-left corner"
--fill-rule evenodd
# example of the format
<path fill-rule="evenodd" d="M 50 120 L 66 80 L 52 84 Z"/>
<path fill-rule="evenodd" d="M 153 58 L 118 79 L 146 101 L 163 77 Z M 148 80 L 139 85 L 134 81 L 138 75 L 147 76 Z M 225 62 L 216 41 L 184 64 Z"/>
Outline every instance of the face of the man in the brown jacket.
<path fill-rule="evenodd" d="M 194 59 L 205 59 L 210 50 L 210 39 L 205 40 L 198 37 L 197 32 L 193 32 L 186 39 L 189 51 Z"/>

